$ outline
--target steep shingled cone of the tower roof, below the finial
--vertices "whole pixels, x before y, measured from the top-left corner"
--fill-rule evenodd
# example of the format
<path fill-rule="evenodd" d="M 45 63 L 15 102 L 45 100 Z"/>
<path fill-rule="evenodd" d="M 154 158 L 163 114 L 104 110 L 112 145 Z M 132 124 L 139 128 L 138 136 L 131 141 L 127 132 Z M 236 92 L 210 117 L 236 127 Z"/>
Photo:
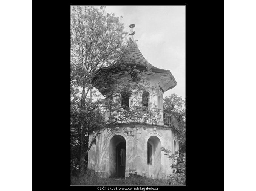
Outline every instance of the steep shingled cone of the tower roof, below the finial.
<path fill-rule="evenodd" d="M 126 65 L 126 66 L 142 66 L 142 67 L 148 67 L 150 66 L 152 69 L 159 69 L 152 64 L 150 64 L 146 59 L 143 57 L 142 53 L 140 52 L 138 45 L 136 44 L 135 41 L 130 41 L 129 45 L 127 47 L 127 52 L 126 54 L 120 58 L 115 64 L 115 66 L 121 66 L 121 65 Z"/>

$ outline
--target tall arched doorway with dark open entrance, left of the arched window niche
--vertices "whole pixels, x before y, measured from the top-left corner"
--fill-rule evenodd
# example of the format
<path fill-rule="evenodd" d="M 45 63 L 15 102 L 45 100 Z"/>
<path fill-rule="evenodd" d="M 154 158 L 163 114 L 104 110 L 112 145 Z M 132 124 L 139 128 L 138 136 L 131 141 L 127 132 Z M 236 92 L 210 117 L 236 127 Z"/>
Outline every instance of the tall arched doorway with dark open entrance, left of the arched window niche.
<path fill-rule="evenodd" d="M 109 143 L 109 173 L 110 177 L 125 176 L 126 141 L 123 136 L 115 135 Z"/>

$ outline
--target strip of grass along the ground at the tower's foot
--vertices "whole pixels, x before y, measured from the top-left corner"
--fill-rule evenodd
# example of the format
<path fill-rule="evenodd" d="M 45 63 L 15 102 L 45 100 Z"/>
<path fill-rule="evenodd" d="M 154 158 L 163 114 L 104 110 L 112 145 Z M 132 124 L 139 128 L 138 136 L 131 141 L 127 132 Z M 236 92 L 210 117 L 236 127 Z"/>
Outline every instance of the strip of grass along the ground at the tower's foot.
<path fill-rule="evenodd" d="M 84 177 L 72 176 L 71 185 L 168 185 L 168 180 L 150 179 L 142 176 L 127 177 L 127 179 L 99 178 L 94 174 Z"/>

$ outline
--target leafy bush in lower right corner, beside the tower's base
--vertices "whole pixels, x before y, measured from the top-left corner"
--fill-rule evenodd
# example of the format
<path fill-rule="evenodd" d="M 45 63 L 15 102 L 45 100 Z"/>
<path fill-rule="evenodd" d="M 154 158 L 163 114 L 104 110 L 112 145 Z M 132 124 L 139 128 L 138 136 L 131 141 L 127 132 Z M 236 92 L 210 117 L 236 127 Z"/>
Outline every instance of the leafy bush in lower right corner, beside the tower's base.
<path fill-rule="evenodd" d="M 175 154 L 171 154 L 170 150 L 166 150 L 164 147 L 161 148 L 164 151 L 169 159 L 171 159 L 174 163 L 172 163 L 171 168 L 173 169 L 172 175 L 169 176 L 170 185 L 186 185 L 186 154 L 179 153 L 176 151 Z"/>

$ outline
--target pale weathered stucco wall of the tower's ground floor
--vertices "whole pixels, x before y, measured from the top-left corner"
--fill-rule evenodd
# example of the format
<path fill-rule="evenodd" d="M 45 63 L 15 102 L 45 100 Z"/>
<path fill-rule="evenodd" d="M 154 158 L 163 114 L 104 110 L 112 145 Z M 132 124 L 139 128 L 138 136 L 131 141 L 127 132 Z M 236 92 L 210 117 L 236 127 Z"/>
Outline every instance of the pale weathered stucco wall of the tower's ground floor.
<path fill-rule="evenodd" d="M 124 129 L 129 129 L 128 125 L 122 125 Z M 122 128 L 115 131 L 116 135 L 121 135 L 126 141 L 126 176 L 129 173 L 135 173 L 152 177 L 152 178 L 163 178 L 164 175 L 172 174 L 171 164 L 172 161 L 164 155 L 163 151 L 160 151 L 161 147 L 164 147 L 173 152 L 174 140 L 177 138 L 177 134 L 174 133 L 170 127 L 144 125 L 138 127 L 136 137 L 127 136 Z M 174 136 L 174 134 L 176 134 Z M 89 135 L 89 140 L 92 139 L 93 133 Z M 154 139 L 152 139 L 154 136 Z M 117 142 L 111 142 L 113 134 L 102 131 L 98 135 L 96 141 L 96 153 L 94 150 L 89 151 L 88 156 L 88 168 L 94 168 L 96 173 L 102 176 L 111 176 L 115 174 L 115 146 Z M 148 140 L 155 141 L 159 139 L 159 144 L 154 146 L 155 156 L 153 157 L 152 165 L 147 164 L 147 142 Z M 176 140 L 178 150 L 178 142 Z M 96 157 L 93 157 L 96 156 Z M 95 167 L 94 167 L 95 164 Z"/>

